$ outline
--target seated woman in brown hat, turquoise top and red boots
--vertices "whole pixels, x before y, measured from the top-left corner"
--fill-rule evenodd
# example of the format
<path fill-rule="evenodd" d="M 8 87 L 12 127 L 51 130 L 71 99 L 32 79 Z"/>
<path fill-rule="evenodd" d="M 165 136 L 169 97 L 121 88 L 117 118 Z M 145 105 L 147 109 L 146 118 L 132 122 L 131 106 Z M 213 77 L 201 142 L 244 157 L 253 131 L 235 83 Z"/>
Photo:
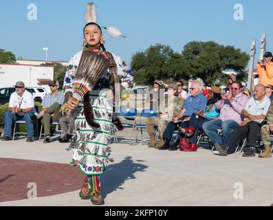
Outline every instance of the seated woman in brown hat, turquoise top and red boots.
<path fill-rule="evenodd" d="M 203 92 L 206 95 L 206 91 Z M 181 128 L 183 134 L 189 135 L 189 148 L 197 148 L 197 137 L 205 122 L 218 118 L 220 111 L 216 109 L 216 103 L 221 100 L 221 88 L 212 86 L 208 89 L 208 102 L 205 111 L 193 113 L 188 122 L 188 128 Z"/>

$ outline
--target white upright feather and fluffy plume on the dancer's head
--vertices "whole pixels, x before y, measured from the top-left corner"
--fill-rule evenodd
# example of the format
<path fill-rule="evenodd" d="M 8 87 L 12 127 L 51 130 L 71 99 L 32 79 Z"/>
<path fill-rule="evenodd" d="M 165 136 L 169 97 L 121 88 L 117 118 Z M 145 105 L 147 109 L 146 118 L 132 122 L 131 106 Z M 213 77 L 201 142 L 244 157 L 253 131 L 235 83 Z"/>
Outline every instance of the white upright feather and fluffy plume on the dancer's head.
<path fill-rule="evenodd" d="M 86 23 L 97 23 L 97 12 L 96 12 L 96 5 L 94 2 L 88 3 L 87 4 L 87 10 L 85 11 L 85 21 Z M 124 34 L 122 34 L 122 32 L 120 32 L 120 30 L 118 30 L 118 28 L 115 27 L 109 27 L 109 28 L 105 28 L 102 25 L 100 25 L 101 28 L 104 28 L 107 33 L 112 36 L 112 37 L 126 37 Z"/>

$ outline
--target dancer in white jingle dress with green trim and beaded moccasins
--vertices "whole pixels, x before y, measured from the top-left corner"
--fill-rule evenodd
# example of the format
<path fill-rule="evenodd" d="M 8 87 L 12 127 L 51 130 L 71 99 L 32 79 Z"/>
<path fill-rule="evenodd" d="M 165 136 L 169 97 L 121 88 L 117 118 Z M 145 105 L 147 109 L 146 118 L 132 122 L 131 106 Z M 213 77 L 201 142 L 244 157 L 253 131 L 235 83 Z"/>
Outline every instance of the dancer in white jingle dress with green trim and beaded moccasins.
<path fill-rule="evenodd" d="M 120 57 L 105 51 L 102 44 L 104 38 L 100 25 L 89 22 L 85 25 L 84 48 L 83 51 L 74 55 L 67 67 L 65 74 L 65 91 L 75 91 L 74 79 L 80 63 L 80 59 L 85 51 L 96 52 L 109 59 L 109 68 L 98 78 L 94 89 L 89 91 L 89 105 L 93 108 L 94 122 L 98 126 L 91 126 L 87 122 L 84 112 L 83 102 L 81 100 L 69 100 L 69 109 L 72 115 L 76 116 L 75 129 L 76 134 L 72 138 L 72 144 L 69 149 L 73 151 L 71 164 L 78 166 L 86 175 L 83 188 L 80 191 L 82 199 L 91 199 L 94 205 L 104 203 L 100 191 L 100 175 L 105 172 L 111 148 L 109 146 L 111 133 L 116 131 L 116 126 L 112 122 L 113 118 L 113 92 L 110 89 L 110 80 L 113 70 L 118 77 L 127 76 L 127 67 Z M 87 96 L 88 97 L 88 96 Z"/>

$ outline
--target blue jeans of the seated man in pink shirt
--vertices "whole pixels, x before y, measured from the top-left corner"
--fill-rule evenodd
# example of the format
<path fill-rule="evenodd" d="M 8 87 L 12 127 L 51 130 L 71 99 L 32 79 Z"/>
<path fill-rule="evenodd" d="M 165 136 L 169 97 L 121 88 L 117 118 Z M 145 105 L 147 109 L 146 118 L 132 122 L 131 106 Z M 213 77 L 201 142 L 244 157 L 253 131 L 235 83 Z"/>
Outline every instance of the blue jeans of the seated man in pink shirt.
<path fill-rule="evenodd" d="M 203 130 L 213 144 L 227 144 L 232 130 L 237 129 L 239 126 L 240 125 L 233 120 L 227 120 L 225 122 L 222 120 L 212 120 L 203 124 Z M 223 139 L 219 136 L 218 129 L 222 130 Z"/>

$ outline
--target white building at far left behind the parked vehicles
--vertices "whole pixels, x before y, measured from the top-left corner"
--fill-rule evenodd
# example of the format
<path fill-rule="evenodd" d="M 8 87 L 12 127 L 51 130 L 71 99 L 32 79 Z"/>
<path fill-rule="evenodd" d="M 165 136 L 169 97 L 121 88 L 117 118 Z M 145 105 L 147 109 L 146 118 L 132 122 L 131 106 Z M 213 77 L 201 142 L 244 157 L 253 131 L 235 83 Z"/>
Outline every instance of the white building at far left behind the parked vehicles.
<path fill-rule="evenodd" d="M 48 84 L 53 78 L 54 67 L 0 63 L 0 88 L 13 87 L 22 81 L 25 87 L 44 87 L 49 92 Z"/>

